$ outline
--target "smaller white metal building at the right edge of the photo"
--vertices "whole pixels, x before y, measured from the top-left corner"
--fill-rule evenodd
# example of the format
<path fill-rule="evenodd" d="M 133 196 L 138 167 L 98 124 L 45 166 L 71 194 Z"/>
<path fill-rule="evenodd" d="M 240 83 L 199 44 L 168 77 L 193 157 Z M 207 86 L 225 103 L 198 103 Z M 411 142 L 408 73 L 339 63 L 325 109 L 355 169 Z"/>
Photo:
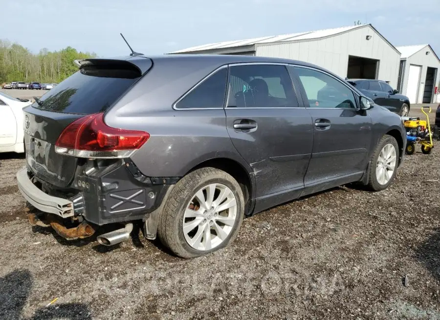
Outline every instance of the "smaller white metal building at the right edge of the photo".
<path fill-rule="evenodd" d="M 410 103 L 434 103 L 440 60 L 430 45 L 398 46 L 400 68 L 397 90 Z"/>

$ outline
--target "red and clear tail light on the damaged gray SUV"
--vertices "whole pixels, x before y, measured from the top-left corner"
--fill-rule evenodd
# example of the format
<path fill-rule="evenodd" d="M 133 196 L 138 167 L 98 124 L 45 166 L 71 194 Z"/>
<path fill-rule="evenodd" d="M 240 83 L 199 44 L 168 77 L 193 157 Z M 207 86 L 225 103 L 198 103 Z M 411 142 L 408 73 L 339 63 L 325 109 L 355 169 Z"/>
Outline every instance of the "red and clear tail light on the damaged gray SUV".
<path fill-rule="evenodd" d="M 90 114 L 69 124 L 55 144 L 59 154 L 79 158 L 128 158 L 150 138 L 145 131 L 116 129 L 104 114 Z"/>

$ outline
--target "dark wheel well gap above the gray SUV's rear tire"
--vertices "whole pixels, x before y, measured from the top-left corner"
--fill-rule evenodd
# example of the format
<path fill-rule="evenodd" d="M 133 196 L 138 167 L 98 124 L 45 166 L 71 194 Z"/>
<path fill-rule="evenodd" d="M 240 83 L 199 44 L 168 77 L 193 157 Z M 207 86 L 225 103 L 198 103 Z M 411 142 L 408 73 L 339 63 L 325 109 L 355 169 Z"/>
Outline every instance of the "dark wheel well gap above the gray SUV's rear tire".
<path fill-rule="evenodd" d="M 198 164 L 189 172 L 205 167 L 212 167 L 223 170 L 224 172 L 230 174 L 235 180 L 237 180 L 237 182 L 242 187 L 244 202 L 246 203 L 246 208 L 245 208 L 245 214 L 246 214 L 250 209 L 249 200 L 250 200 L 250 196 L 252 195 L 252 183 L 249 174 L 243 168 L 243 166 L 235 160 L 231 160 L 228 158 L 216 158 L 216 159 L 206 160 Z"/>

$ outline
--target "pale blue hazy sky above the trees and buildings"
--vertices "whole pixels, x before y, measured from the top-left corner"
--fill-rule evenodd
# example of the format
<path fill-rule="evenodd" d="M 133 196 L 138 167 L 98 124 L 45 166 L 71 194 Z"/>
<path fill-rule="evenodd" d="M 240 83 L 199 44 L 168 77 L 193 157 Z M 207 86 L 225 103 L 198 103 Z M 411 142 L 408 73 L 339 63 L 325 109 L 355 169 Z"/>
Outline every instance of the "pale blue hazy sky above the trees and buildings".
<path fill-rule="evenodd" d="M 439 0 L 0 0 L 0 39 L 38 53 L 161 54 L 209 43 L 372 23 L 394 46 L 440 56 Z"/>

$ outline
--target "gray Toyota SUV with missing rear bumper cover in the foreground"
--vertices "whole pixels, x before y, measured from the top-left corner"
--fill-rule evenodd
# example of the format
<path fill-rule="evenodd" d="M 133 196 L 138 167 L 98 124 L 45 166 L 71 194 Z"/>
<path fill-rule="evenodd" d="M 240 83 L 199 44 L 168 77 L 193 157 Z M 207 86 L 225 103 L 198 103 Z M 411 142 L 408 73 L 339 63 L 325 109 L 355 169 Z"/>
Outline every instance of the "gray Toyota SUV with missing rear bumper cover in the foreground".
<path fill-rule="evenodd" d="M 85 59 L 24 109 L 29 220 L 113 245 L 133 224 L 182 257 L 230 243 L 244 215 L 345 183 L 385 189 L 397 114 L 307 63 L 228 55 Z M 43 211 L 43 213 L 41 212 Z"/>

